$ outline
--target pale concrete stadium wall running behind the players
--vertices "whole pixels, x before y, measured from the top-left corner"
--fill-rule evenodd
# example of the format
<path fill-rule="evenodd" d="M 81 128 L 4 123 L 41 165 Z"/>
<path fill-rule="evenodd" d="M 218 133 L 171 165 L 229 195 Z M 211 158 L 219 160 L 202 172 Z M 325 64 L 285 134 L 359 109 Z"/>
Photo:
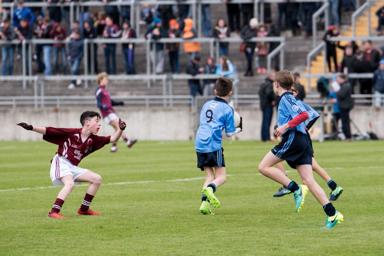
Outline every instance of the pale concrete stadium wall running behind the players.
<path fill-rule="evenodd" d="M 83 111 L 98 111 L 93 107 L 63 107 L 55 109 L 16 108 L 0 109 L 1 120 L 5 123 L 1 126 L 0 140 L 41 140 L 41 135 L 35 132 L 26 132 L 15 124 L 26 122 L 35 126 L 53 127 L 81 127 L 80 114 Z M 135 108 L 116 107 L 116 112 L 127 122 L 126 129 L 129 138 L 139 140 L 189 140 L 194 139 L 196 124 L 199 121 L 199 113 L 189 112 L 187 107 L 174 107 L 165 109 L 161 107 Z M 244 130 L 236 138 L 242 140 L 260 140 L 261 111 L 258 107 L 239 107 L 237 112 L 243 117 Z M 372 131 L 384 138 L 384 109 L 374 111 L 369 106 L 358 106 L 350 115 L 351 119 L 362 132 L 369 132 L 369 121 L 372 123 Z M 326 118 L 325 118 L 326 119 Z M 276 123 L 276 113 L 273 114 L 271 132 Z M 319 132 L 319 124 L 314 129 Z M 356 128 L 351 125 L 353 134 Z M 113 129 L 102 121 L 99 135 L 111 135 Z M 272 135 L 272 133 L 271 133 Z M 225 136 L 223 136 L 225 137 Z M 315 139 L 316 137 L 314 137 Z"/>

